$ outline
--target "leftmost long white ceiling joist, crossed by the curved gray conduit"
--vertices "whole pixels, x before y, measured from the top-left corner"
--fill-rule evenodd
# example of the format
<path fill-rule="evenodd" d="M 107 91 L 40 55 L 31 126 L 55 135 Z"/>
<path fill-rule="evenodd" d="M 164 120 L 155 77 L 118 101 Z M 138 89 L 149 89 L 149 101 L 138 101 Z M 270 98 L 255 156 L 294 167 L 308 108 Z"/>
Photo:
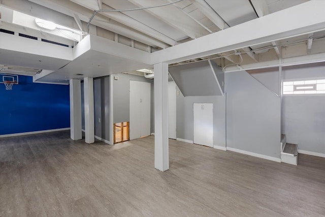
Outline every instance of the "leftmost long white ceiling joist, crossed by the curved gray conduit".
<path fill-rule="evenodd" d="M 75 4 L 70 1 L 53 1 L 53 0 L 45 0 L 45 1 L 38 1 L 38 0 L 29 0 L 30 2 L 42 5 L 46 8 L 58 11 L 60 13 L 69 15 L 73 17 L 74 13 L 76 13 L 79 18 L 84 21 L 88 22 L 89 18 L 92 16 L 93 11 L 87 8 L 84 8 L 78 4 Z M 26 13 L 27 10 L 26 10 Z M 44 13 L 44 12 L 43 12 Z M 156 40 L 152 37 L 149 37 L 139 31 L 133 30 L 126 25 L 121 25 L 120 23 L 108 19 L 103 15 L 99 14 L 95 16 L 92 20 L 94 25 L 99 27 L 109 29 L 114 33 L 119 35 L 125 36 L 127 38 L 134 39 L 136 41 L 142 42 L 144 44 L 153 46 L 153 47 L 160 47 L 160 48 L 167 48 L 169 47 L 166 43 L 161 42 L 160 40 Z"/>

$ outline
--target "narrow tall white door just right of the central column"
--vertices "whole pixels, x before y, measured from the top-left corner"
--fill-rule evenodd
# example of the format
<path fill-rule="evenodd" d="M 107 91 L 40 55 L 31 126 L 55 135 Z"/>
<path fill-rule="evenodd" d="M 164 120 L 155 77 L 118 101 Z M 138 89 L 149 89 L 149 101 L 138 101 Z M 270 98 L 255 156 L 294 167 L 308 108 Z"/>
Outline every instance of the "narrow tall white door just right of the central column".
<path fill-rule="evenodd" d="M 176 83 L 168 82 L 168 137 L 176 139 Z"/>

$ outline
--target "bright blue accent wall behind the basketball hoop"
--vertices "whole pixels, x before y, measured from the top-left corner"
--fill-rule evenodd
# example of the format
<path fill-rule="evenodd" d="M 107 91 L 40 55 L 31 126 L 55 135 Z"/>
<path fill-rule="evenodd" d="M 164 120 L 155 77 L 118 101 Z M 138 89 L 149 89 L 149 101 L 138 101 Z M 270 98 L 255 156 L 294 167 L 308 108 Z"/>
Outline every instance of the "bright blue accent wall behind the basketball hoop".
<path fill-rule="evenodd" d="M 69 85 L 18 81 L 12 90 L 0 84 L 0 135 L 70 128 Z"/>

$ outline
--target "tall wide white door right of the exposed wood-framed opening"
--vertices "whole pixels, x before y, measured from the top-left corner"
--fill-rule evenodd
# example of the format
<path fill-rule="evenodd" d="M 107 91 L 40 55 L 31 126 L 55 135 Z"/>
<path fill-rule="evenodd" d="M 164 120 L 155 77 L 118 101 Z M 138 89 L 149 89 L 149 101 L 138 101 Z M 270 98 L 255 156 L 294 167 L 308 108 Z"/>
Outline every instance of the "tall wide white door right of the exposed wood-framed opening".
<path fill-rule="evenodd" d="M 130 140 L 150 135 L 150 91 L 150 83 L 130 81 Z"/>

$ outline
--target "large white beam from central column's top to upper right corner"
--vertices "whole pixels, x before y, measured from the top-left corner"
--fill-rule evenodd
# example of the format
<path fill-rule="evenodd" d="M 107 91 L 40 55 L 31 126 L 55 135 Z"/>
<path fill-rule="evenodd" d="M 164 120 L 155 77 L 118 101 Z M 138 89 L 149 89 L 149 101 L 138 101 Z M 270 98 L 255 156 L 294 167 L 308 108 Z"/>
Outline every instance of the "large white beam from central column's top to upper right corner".
<path fill-rule="evenodd" d="M 325 1 L 310 1 L 278 11 L 264 16 L 263 19 L 254 19 L 189 42 L 156 51 L 151 54 L 151 64 L 177 63 L 178 61 L 324 30 L 325 13 L 323 8 L 325 8 Z M 281 17 L 281 22 L 274 22 L 279 17 Z M 266 28 L 266 26 L 268 27 Z"/>

